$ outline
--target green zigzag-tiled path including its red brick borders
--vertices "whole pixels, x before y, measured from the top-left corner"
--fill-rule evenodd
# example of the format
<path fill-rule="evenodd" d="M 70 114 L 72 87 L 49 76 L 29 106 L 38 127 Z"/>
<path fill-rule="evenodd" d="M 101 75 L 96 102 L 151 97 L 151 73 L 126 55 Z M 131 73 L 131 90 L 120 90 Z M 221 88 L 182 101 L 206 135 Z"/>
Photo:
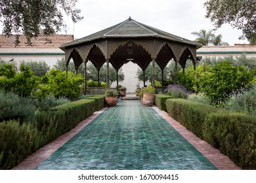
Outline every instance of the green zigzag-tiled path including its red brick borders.
<path fill-rule="evenodd" d="M 157 107 L 95 113 L 14 169 L 240 169 Z"/>

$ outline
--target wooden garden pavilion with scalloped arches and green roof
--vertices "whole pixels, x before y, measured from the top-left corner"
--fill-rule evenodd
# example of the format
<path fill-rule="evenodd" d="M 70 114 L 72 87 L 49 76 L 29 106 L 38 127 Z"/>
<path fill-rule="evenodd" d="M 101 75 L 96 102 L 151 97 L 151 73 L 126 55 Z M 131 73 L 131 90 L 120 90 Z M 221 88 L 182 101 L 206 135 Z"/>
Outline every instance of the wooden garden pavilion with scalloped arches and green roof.
<path fill-rule="evenodd" d="M 86 93 L 88 61 L 91 61 L 98 71 L 98 82 L 100 67 L 106 63 L 107 86 L 109 86 L 110 63 L 116 69 L 116 73 L 129 61 L 139 65 L 143 72 L 152 63 L 152 86 L 154 86 L 155 63 L 158 63 L 161 68 L 162 78 L 163 69 L 171 59 L 175 61 L 176 73 L 178 63 L 181 64 L 184 73 L 187 59 L 192 60 L 194 69 L 196 69 L 196 50 L 201 46 L 202 44 L 198 42 L 190 41 L 161 31 L 160 29 L 141 24 L 129 17 L 124 22 L 113 25 L 112 27 L 62 44 L 60 48 L 65 52 L 67 73 L 71 58 L 74 60 L 76 70 L 78 70 L 79 65 L 82 63 L 85 65 L 84 92 Z"/>

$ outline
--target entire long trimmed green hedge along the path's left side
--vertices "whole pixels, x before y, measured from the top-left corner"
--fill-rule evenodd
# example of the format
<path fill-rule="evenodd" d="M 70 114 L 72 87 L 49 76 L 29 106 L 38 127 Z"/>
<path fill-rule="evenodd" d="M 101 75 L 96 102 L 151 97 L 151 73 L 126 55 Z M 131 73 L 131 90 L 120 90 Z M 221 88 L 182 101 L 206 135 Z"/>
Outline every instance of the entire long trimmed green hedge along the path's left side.
<path fill-rule="evenodd" d="M 0 123 L 0 169 L 11 169 L 35 150 L 73 129 L 95 112 L 95 100 L 82 99 L 39 112 L 32 124 Z"/>

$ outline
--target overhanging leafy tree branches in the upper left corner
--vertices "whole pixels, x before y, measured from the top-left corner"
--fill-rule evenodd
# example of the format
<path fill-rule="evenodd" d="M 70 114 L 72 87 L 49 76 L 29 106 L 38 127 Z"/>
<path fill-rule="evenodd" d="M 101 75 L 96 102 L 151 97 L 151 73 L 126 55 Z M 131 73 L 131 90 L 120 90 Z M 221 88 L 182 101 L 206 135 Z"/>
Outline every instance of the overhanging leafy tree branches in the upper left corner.
<path fill-rule="evenodd" d="M 64 26 L 62 10 L 71 16 L 73 22 L 82 20 L 81 10 L 75 7 L 77 0 L 1 0 L 0 21 L 3 22 L 3 33 L 16 34 L 15 44 L 19 44 L 19 35 L 26 35 L 27 44 L 32 45 L 32 37 L 39 35 L 39 29 L 44 35 L 52 35 Z"/>

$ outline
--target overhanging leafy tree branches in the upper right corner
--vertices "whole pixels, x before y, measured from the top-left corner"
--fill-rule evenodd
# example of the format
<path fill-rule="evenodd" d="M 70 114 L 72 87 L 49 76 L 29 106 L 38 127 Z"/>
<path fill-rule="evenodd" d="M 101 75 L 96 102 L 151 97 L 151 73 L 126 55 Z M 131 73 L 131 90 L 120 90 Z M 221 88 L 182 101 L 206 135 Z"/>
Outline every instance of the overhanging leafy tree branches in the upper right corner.
<path fill-rule="evenodd" d="M 256 1 L 255 0 L 208 0 L 204 3 L 206 18 L 209 18 L 216 28 L 230 24 L 242 30 L 240 39 L 255 39 L 256 37 Z"/>

